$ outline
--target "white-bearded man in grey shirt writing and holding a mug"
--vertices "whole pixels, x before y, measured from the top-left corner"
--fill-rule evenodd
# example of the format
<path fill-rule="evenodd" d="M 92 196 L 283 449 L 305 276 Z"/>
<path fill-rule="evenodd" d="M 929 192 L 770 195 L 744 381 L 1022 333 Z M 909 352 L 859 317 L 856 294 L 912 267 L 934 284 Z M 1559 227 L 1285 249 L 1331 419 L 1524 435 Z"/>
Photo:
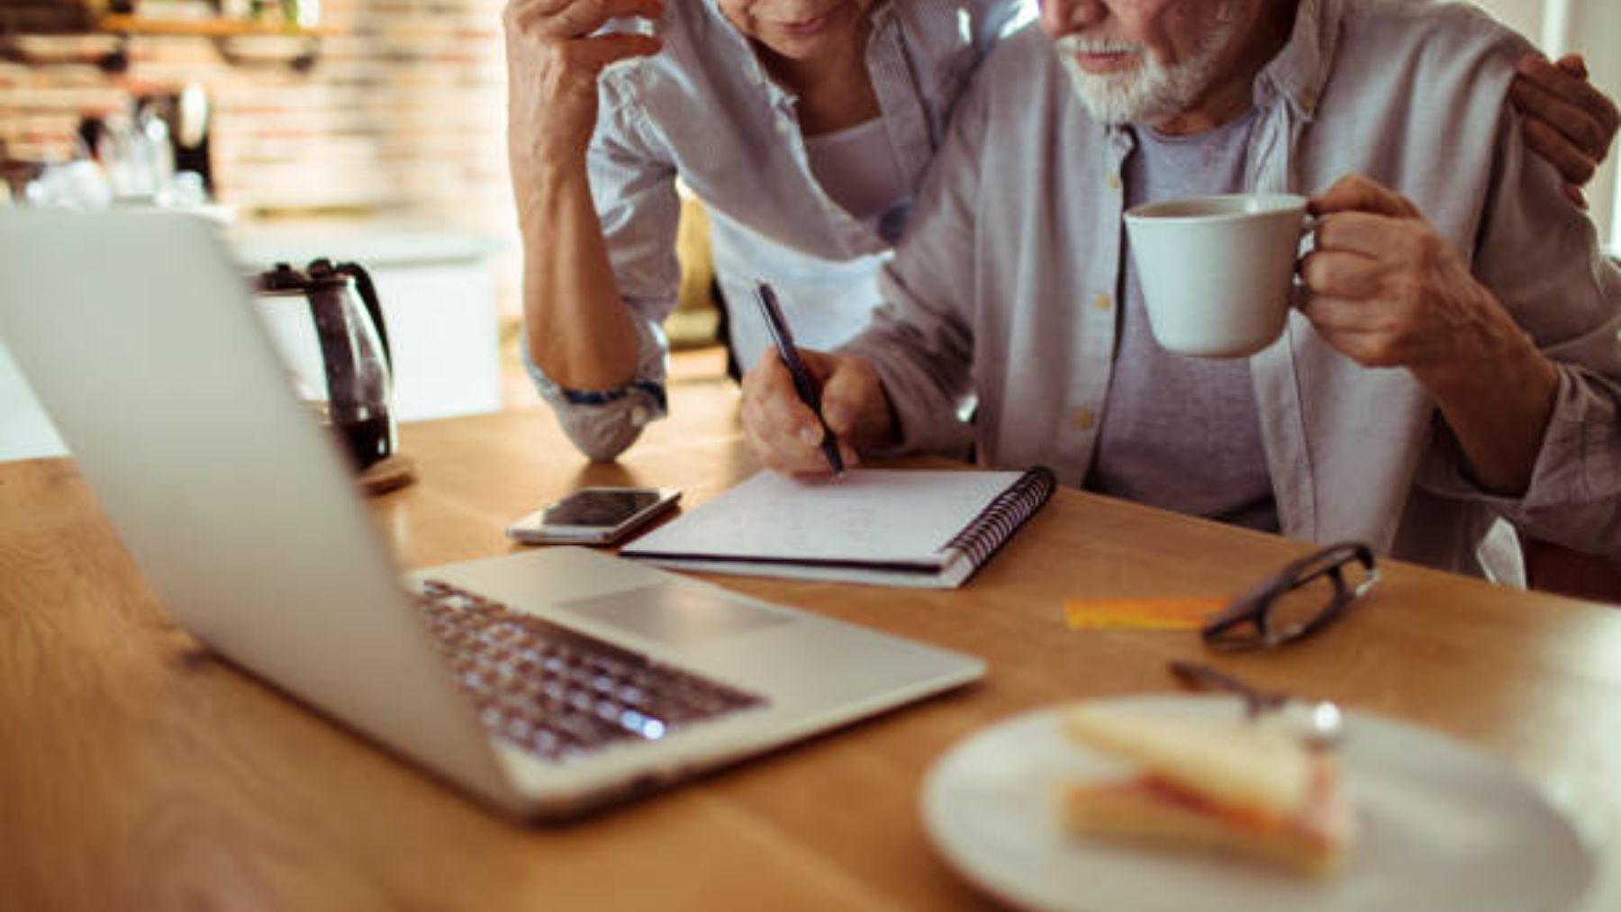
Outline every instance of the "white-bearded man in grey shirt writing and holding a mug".
<path fill-rule="evenodd" d="M 950 441 L 971 394 L 982 460 L 1143 504 L 1473 573 L 1496 517 L 1621 552 L 1621 272 L 1501 104 L 1517 36 L 1355 0 L 1041 24 L 961 102 L 874 324 L 809 356 L 846 455 Z M 1253 358 L 1170 355 L 1122 212 L 1242 190 L 1318 194 L 1310 300 Z M 767 465 L 825 471 L 775 360 L 744 392 Z"/>

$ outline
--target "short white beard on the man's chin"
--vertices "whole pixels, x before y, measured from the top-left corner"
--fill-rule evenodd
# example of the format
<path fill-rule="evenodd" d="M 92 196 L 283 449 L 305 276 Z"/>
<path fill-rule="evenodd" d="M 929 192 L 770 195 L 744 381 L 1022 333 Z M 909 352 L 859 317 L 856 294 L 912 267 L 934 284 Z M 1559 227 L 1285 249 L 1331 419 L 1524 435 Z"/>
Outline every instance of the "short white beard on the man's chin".
<path fill-rule="evenodd" d="M 1070 84 L 1086 110 L 1102 123 L 1162 123 L 1193 107 L 1216 78 L 1217 60 L 1238 32 L 1234 3 L 1216 11 L 1209 34 L 1193 57 L 1165 66 L 1140 44 L 1063 36 L 1057 39 L 1059 60 L 1070 73 Z M 1138 66 L 1120 73 L 1088 73 L 1076 53 L 1136 52 Z"/>

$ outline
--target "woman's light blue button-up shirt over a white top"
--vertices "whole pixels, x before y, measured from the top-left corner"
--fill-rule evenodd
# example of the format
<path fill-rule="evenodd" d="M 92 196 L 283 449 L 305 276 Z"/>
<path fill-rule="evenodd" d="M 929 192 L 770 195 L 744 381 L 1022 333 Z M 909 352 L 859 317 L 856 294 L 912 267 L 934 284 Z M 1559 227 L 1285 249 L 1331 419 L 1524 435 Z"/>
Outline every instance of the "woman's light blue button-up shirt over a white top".
<path fill-rule="evenodd" d="M 710 214 L 715 272 L 744 364 L 765 350 L 752 296 L 762 280 L 776 290 L 801 345 L 838 345 L 879 303 L 877 271 L 905 228 L 952 105 L 990 47 L 1031 21 L 1034 6 L 880 0 L 870 16 L 867 68 L 880 118 L 856 141 L 869 151 L 887 146 L 888 157 L 877 156 L 862 181 L 840 157 L 838 134 L 822 138 L 833 141 L 830 156 L 812 152 L 825 144 L 802 134 L 794 96 L 767 75 L 715 0 L 668 5 L 665 49 L 603 75 L 588 172 L 614 279 L 637 326 L 637 377 L 609 390 L 562 389 L 525 353 L 541 395 L 587 455 L 611 458 L 665 413 L 660 324 L 681 285 L 676 180 Z M 895 188 L 903 193 L 872 211 Z M 856 209 L 846 206 L 853 201 Z"/>

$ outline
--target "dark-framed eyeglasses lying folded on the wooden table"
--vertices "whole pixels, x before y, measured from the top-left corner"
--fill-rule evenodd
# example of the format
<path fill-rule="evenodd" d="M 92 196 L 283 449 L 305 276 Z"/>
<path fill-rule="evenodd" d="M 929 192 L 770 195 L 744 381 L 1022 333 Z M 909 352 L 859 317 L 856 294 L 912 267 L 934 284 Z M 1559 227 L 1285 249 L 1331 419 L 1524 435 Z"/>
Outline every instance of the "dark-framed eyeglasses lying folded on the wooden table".
<path fill-rule="evenodd" d="M 1373 549 L 1358 541 L 1332 544 L 1232 599 L 1204 625 L 1204 641 L 1221 650 L 1253 650 L 1303 640 L 1328 627 L 1378 578 Z"/>

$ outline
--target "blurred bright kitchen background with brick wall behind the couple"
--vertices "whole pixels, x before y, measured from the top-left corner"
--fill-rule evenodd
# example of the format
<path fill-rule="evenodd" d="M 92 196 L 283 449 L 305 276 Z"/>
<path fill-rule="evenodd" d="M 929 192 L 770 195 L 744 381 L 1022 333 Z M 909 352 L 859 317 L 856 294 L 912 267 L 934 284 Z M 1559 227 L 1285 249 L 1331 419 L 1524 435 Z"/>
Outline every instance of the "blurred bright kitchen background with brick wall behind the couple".
<path fill-rule="evenodd" d="M 1621 96 L 1621 0 L 1485 6 L 1551 55 L 1585 52 Z M 0 0 L 0 206 L 195 207 L 227 225 L 248 269 L 358 261 L 399 348 L 399 418 L 533 405 L 515 356 L 501 8 Z M 1611 160 L 1589 191 L 1606 238 L 1621 237 L 1616 194 Z M 682 261 L 669 330 L 704 350 L 715 314 L 695 204 Z M 0 458 L 57 452 L 0 343 Z"/>

